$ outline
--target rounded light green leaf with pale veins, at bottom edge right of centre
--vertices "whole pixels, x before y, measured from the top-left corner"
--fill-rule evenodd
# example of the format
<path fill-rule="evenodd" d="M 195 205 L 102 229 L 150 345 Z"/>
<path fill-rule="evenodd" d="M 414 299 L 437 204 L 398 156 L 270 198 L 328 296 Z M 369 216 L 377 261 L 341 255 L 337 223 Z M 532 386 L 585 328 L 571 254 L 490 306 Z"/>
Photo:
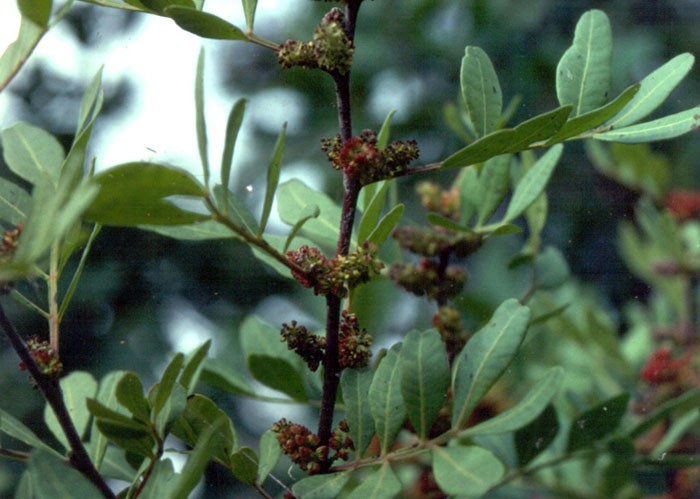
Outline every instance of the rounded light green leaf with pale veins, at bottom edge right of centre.
<path fill-rule="evenodd" d="M 432 455 L 435 481 L 447 494 L 480 497 L 505 473 L 496 456 L 481 447 L 433 447 Z"/>

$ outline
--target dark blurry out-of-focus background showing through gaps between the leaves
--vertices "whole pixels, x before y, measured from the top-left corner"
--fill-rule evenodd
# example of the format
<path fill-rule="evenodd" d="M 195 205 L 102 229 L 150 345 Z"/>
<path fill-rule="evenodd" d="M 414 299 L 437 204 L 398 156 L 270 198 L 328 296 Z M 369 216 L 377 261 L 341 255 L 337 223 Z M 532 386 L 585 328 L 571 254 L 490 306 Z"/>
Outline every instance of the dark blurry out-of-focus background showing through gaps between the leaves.
<path fill-rule="evenodd" d="M 261 34 L 278 42 L 287 38 L 309 39 L 330 6 L 308 0 L 287 3 L 293 7 L 285 9 L 286 17 L 271 16 L 259 24 Z M 258 8 L 264 10 L 266 2 L 261 0 Z M 356 133 L 363 128 L 377 129 L 385 115 L 397 109 L 392 137 L 416 139 L 422 151 L 421 164 L 443 159 L 461 147 L 460 139 L 445 124 L 444 108 L 458 99 L 459 67 L 465 45 L 478 45 L 489 54 L 506 102 L 518 95 L 522 97 L 514 122 L 554 108 L 556 64 L 571 42 L 577 19 L 591 8 L 603 9 L 612 22 L 615 92 L 639 81 L 672 56 L 697 52 L 700 47 L 697 0 L 368 1 L 358 24 L 352 74 Z M 150 22 L 144 15 L 78 2 L 63 21 L 62 36 L 67 47 L 64 50 L 87 51 L 160 27 L 150 27 L 146 24 Z M 151 35 L 158 40 L 157 31 Z M 293 174 L 309 179 L 338 199 L 339 179 L 319 148 L 320 138 L 336 133 L 337 127 L 330 79 L 302 69 L 282 72 L 274 55 L 260 47 L 220 42 L 208 42 L 206 47 L 212 93 L 218 93 L 228 106 L 233 96 L 251 98 L 246 118 L 247 152 L 242 159 L 234 160 L 237 166 L 232 188 L 254 211 L 259 210 L 265 182 L 261 165 L 267 163 L 279 131 L 267 118 L 285 119 L 285 111 L 289 111 L 296 113 L 297 119 L 290 118 L 284 164 L 291 166 Z M 170 50 L 167 43 L 159 48 L 164 54 Z M 66 57 L 71 57 L 70 53 Z M 96 71 L 101 63 L 109 67 L 110 60 L 98 58 L 90 71 Z M 177 70 L 175 62 L 172 70 Z M 127 72 L 106 86 L 104 119 L 119 118 L 120 125 L 100 129 L 101 143 L 119 148 L 119 127 L 129 126 L 129 116 L 139 102 L 140 86 L 148 78 L 148 73 Z M 193 87 L 194 74 L 185 78 Z M 42 61 L 29 64 L 4 93 L 10 95 L 13 117 L 47 129 L 68 146 L 72 137 L 67 130 L 72 123 L 66 126 L 65 116 L 75 113 L 81 85 L 81 79 L 57 73 Z M 178 99 L 189 106 L 192 93 Z M 699 100 L 700 81 L 695 69 L 660 111 L 679 111 Z M 172 104 L 175 109 L 178 105 L 177 100 Z M 164 109 L 157 117 L 162 126 L 190 127 L 194 135 L 193 124 L 173 123 L 171 111 Z M 223 135 L 223 130 L 211 126 L 209 132 Z M 700 142 L 696 135 L 652 147 L 668 158 L 671 185 L 700 187 Z M 99 160 L 100 151 L 93 154 Z M 196 154 L 195 149 L 192 154 Z M 160 160 L 157 151 L 152 159 Z M 178 162 L 177 157 L 167 159 Z M 453 176 L 453 172 L 440 173 L 431 179 L 448 185 Z M 413 187 L 424 178 L 398 181 L 401 200 L 409 204 L 405 216 L 416 223 L 425 219 L 416 207 Z M 250 186 L 255 187 L 253 194 L 246 195 L 246 187 Z M 616 249 L 617 222 L 631 216 L 637 193 L 597 174 L 578 143 L 567 146 L 548 193 L 551 214 L 545 239 L 564 252 L 572 273 L 590 284 L 613 316 L 622 304 L 643 300 L 646 287 L 624 268 Z M 479 279 L 494 275 L 490 266 L 503 265 L 517 251 L 517 237 L 510 241 L 502 238 L 503 242 L 491 249 L 492 257 L 470 263 L 473 278 L 469 294 L 477 297 L 474 299 L 478 299 L 479 290 L 483 290 L 485 301 L 508 294 L 508 289 L 499 289 L 509 286 L 507 281 Z M 428 313 L 401 316 L 384 312 L 382 317 L 388 319 L 374 325 L 380 330 L 370 328 L 380 337 L 379 343 L 382 335 L 400 334 L 414 324 L 429 324 L 430 309 L 424 302 L 412 298 L 402 302 L 390 285 L 380 288 L 391 295 L 393 310 L 413 307 L 412 310 Z M 37 283 L 25 285 L 23 291 L 42 300 L 43 290 Z M 190 350 L 211 337 L 215 356 L 240 362 L 235 331 L 247 314 L 256 312 L 276 325 L 307 317 L 313 325 L 322 301 L 308 295 L 300 293 L 292 281 L 266 269 L 235 241 L 188 243 L 136 230 L 105 228 L 63 323 L 62 358 L 67 371 L 85 369 L 99 378 L 113 369 L 134 370 L 148 384 L 173 351 Z M 45 334 L 46 325 L 38 316 L 15 304 L 7 306 L 22 334 Z M 41 397 L 30 388 L 26 373 L 17 369 L 18 361 L 4 339 L 0 339 L 0 355 L 0 407 L 42 433 Z M 262 409 L 216 390 L 209 394 L 232 413 L 244 442 L 250 438 L 246 433 L 255 434 L 280 417 L 264 413 L 261 418 L 250 418 L 251 411 L 257 414 Z M 262 423 L 255 424 L 258 419 Z M 4 440 L 0 444 L 4 445 Z M 11 494 L 19 470 L 21 465 L 2 462 L 0 496 Z M 230 479 L 216 470 L 211 473 L 205 497 L 231 497 L 230 493 L 219 492 Z"/>

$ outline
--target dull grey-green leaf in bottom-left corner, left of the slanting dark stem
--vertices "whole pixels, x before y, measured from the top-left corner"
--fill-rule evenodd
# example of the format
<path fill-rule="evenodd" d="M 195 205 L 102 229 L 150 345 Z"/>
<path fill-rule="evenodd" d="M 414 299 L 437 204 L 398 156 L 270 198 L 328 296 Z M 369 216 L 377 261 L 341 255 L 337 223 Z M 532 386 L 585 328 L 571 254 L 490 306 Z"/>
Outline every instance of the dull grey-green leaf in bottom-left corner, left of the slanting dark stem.
<path fill-rule="evenodd" d="M 76 469 L 51 453 L 32 452 L 27 463 L 35 499 L 102 497 L 102 493 Z"/>

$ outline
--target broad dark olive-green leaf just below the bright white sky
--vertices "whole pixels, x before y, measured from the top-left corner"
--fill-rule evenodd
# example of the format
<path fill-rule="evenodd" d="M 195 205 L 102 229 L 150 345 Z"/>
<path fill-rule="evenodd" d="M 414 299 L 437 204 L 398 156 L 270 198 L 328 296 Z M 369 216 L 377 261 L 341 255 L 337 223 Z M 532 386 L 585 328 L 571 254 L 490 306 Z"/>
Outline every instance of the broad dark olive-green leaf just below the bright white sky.
<path fill-rule="evenodd" d="M 206 220 L 206 215 L 178 208 L 170 196 L 202 198 L 204 187 L 189 173 L 171 166 L 125 163 L 94 177 L 100 192 L 85 219 L 102 225 L 179 225 Z"/>

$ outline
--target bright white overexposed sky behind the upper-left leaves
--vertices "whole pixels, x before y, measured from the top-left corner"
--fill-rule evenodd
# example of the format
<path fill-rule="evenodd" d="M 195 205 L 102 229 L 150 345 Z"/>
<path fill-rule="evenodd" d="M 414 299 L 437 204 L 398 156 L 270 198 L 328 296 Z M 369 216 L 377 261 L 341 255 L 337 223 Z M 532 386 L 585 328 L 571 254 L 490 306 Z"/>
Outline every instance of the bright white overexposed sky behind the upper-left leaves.
<path fill-rule="evenodd" d="M 294 13 L 299 10 L 302 1 L 305 0 L 260 0 L 256 26 L 260 27 L 263 36 L 266 25 L 293 23 Z M 103 16 L 117 12 L 107 8 L 100 10 Z M 239 27 L 245 26 L 241 2 L 208 0 L 205 10 Z M 19 14 L 15 2 L 3 0 L 0 2 L 0 50 L 4 51 L 14 40 L 18 29 Z M 174 164 L 201 175 L 195 133 L 195 68 L 200 47 L 203 45 L 206 50 L 217 43 L 243 42 L 203 41 L 183 31 L 170 19 L 140 14 L 139 24 L 126 35 L 120 37 L 117 33 L 109 33 L 99 43 L 86 49 L 79 46 L 59 23 L 41 40 L 28 65 L 49 62 L 51 71 L 59 76 L 65 75 L 70 79 L 78 77 L 87 85 L 104 64 L 103 82 L 107 88 L 125 74 L 131 76 L 132 88 L 136 91 L 130 95 L 124 112 L 110 118 L 98 118 L 91 141 L 92 151 L 99 152 L 98 170 L 127 161 L 143 160 Z M 210 52 L 206 66 L 209 74 L 216 63 L 214 51 Z M 222 94 L 211 83 L 214 81 L 212 78 L 205 76 L 205 81 L 208 82 L 205 99 L 209 159 L 212 177 L 216 180 L 228 112 L 239 96 Z M 293 102 L 291 99 L 289 101 Z M 11 104 L 11 93 L 0 93 L 0 128 L 6 128 L 18 119 Z M 290 126 L 291 122 L 298 123 L 303 118 L 301 106 L 287 103 L 282 113 L 279 105 L 279 102 L 275 104 L 268 98 L 256 99 L 255 109 L 249 104 L 248 112 L 256 116 L 280 118 L 265 123 L 277 132 L 283 123 L 282 116 L 286 116 Z M 234 165 L 246 158 L 247 151 L 243 147 L 246 135 L 244 120 Z"/>

